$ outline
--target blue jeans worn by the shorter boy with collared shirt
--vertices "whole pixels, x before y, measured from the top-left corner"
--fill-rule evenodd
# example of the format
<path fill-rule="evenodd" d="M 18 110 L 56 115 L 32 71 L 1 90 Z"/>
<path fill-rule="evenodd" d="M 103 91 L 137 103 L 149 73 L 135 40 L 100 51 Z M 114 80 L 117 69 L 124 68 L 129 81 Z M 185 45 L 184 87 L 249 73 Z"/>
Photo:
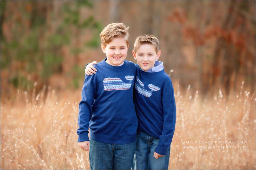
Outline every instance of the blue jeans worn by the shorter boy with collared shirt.
<path fill-rule="evenodd" d="M 167 148 L 165 156 L 156 159 L 154 152 L 158 141 L 158 138 L 147 133 L 140 132 L 137 134 L 132 169 L 168 169 L 171 147 Z"/>

